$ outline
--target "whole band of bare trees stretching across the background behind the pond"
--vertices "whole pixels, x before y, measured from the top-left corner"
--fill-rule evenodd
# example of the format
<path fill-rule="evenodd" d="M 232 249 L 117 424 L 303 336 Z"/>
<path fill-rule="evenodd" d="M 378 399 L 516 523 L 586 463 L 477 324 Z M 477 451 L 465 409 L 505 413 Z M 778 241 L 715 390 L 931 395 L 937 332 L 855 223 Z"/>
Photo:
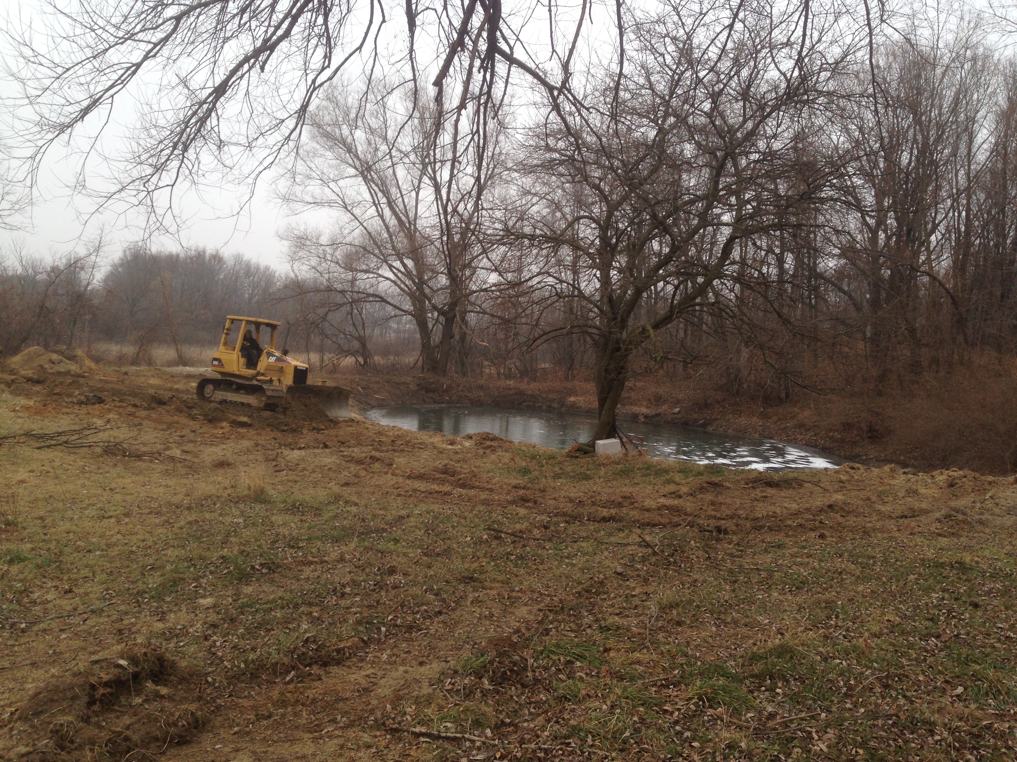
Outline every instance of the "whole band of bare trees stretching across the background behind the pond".
<path fill-rule="evenodd" d="M 456 108 L 415 80 L 335 86 L 285 194 L 334 224 L 288 231 L 286 273 L 11 259 L 4 348 L 140 360 L 253 312 L 319 365 L 587 374 L 598 435 L 643 372 L 787 400 L 1012 358 L 1017 58 L 966 18 L 874 30 L 810 7 L 630 9 L 609 60 L 497 108 L 465 69 Z"/>

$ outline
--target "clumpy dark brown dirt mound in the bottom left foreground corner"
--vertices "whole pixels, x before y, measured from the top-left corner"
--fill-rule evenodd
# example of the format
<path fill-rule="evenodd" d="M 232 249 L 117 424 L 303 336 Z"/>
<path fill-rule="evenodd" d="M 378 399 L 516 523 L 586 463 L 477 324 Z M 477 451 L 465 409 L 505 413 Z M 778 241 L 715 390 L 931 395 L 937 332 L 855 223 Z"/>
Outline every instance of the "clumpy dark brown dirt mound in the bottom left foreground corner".
<path fill-rule="evenodd" d="M 0 759 L 120 760 L 186 743 L 202 714 L 186 676 L 158 649 L 124 649 L 43 685 L 13 714 L 20 746 Z"/>

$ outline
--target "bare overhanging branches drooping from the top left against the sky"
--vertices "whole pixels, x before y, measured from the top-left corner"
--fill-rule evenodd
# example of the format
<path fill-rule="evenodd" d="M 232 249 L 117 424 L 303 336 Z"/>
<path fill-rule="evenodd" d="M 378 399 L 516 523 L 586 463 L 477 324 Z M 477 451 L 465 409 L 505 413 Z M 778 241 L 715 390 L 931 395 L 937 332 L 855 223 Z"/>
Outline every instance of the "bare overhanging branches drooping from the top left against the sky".
<path fill-rule="evenodd" d="M 506 49 L 519 34 L 500 0 L 46 0 L 35 17 L 36 28 L 7 33 L 18 51 L 8 66 L 22 88 L 17 114 L 31 115 L 17 146 L 31 172 L 61 141 L 81 148 L 83 172 L 99 138 L 113 134 L 123 149 L 102 154 L 105 184 L 93 166 L 78 190 L 132 200 L 162 225 L 184 187 L 255 182 L 347 73 L 368 87 L 379 70 L 405 77 L 423 96 L 415 104 L 442 114 L 479 97 L 487 119 L 506 81 L 497 62 L 516 60 Z M 555 26 L 565 17 L 552 13 Z"/>

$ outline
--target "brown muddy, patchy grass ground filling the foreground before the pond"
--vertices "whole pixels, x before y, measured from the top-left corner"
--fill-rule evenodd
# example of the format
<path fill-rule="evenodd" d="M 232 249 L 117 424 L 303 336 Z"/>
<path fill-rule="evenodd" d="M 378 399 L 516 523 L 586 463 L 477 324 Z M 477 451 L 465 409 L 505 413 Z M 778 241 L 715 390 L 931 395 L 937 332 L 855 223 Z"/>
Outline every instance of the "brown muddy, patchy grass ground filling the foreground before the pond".
<path fill-rule="evenodd" d="M 4 759 L 1017 754 L 1011 478 L 574 459 L 163 371 L 37 381 L 0 387 Z"/>

